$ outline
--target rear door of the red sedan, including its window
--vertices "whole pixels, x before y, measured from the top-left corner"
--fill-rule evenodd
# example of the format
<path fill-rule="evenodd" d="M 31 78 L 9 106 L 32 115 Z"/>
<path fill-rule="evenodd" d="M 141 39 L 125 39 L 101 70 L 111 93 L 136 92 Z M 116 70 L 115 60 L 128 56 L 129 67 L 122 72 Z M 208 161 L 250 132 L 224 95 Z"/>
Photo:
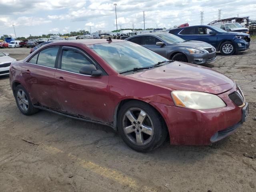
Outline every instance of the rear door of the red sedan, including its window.
<path fill-rule="evenodd" d="M 59 46 L 45 48 L 22 65 L 32 103 L 53 110 L 60 110 L 54 83 L 59 49 Z"/>

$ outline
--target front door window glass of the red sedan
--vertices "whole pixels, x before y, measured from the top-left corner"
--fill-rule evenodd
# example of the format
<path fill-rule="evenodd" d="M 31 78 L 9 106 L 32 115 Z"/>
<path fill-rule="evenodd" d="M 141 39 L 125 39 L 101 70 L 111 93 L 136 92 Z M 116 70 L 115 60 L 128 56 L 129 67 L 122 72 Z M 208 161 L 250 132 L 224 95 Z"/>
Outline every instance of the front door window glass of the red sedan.
<path fill-rule="evenodd" d="M 61 69 L 79 73 L 80 69 L 91 63 L 82 53 L 75 50 L 63 50 L 61 59 Z"/>

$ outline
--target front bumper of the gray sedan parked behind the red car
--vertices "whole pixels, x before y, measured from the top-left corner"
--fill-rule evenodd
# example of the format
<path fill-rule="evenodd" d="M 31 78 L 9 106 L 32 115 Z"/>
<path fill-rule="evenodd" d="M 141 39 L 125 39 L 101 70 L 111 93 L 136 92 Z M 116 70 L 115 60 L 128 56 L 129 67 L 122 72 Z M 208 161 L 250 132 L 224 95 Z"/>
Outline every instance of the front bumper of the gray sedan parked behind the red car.
<path fill-rule="evenodd" d="M 204 54 L 187 54 L 188 62 L 193 64 L 206 64 L 216 60 L 216 51 Z"/>

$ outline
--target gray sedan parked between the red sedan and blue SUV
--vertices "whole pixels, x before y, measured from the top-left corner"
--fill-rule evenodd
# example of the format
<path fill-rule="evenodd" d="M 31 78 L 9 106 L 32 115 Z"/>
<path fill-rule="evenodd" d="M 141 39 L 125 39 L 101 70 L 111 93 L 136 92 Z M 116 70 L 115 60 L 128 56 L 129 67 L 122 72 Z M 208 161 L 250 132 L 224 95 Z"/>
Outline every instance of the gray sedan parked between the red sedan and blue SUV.
<path fill-rule="evenodd" d="M 216 50 L 212 45 L 201 41 L 185 41 L 166 32 L 143 33 L 126 40 L 175 61 L 205 64 L 216 59 Z"/>

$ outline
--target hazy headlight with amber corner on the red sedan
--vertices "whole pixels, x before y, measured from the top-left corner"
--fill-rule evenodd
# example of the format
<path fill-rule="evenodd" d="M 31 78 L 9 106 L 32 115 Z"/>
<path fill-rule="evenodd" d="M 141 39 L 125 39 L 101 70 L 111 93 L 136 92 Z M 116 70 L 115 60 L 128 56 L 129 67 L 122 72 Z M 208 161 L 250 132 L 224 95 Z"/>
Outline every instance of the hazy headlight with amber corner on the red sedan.
<path fill-rule="evenodd" d="M 176 106 L 190 109 L 213 109 L 225 107 L 221 98 L 214 94 L 198 91 L 172 91 L 172 98 Z"/>

